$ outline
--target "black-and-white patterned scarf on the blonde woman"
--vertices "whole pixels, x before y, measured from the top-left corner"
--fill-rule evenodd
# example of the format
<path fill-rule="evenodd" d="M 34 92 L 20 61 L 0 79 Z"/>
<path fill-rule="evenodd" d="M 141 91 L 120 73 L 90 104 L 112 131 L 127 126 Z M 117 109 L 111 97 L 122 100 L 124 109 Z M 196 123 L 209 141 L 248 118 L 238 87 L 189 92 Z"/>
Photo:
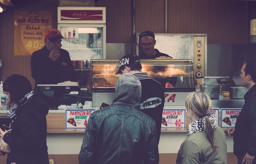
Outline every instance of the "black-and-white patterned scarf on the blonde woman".
<path fill-rule="evenodd" d="M 212 130 L 214 130 L 217 127 L 217 119 L 212 112 L 208 114 L 208 117 L 211 122 Z M 202 117 L 188 125 L 187 136 L 196 132 L 205 132 L 205 117 Z"/>

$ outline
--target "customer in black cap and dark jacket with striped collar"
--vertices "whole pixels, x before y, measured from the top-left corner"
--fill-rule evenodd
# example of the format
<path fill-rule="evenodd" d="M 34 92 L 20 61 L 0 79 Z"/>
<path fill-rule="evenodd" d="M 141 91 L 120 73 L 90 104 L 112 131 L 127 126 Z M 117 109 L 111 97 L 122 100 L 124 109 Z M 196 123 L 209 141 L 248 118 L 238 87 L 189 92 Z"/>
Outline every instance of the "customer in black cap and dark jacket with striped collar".
<path fill-rule="evenodd" d="M 123 56 L 118 63 L 118 73 L 131 73 L 141 82 L 141 101 L 138 110 L 153 118 L 156 122 L 157 143 L 159 143 L 164 108 L 164 89 L 146 72 L 142 72 L 140 59 L 136 54 Z"/>

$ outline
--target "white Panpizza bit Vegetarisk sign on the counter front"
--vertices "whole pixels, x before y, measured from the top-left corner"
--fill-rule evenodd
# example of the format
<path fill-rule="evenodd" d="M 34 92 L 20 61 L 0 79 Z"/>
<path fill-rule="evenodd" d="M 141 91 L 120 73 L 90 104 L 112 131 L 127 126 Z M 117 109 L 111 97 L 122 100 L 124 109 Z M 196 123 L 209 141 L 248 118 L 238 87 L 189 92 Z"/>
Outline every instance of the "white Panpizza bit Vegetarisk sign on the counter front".
<path fill-rule="evenodd" d="M 66 128 L 86 128 L 93 109 L 67 109 Z"/>

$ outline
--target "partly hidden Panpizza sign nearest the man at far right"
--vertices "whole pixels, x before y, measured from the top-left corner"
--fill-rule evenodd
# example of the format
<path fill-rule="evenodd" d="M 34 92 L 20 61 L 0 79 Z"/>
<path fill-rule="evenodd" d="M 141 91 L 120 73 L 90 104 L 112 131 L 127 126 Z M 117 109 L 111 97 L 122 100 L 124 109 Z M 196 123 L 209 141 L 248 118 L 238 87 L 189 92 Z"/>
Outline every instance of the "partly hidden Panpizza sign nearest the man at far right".
<path fill-rule="evenodd" d="M 221 109 L 221 127 L 235 127 L 237 116 L 240 114 L 241 109 Z"/>

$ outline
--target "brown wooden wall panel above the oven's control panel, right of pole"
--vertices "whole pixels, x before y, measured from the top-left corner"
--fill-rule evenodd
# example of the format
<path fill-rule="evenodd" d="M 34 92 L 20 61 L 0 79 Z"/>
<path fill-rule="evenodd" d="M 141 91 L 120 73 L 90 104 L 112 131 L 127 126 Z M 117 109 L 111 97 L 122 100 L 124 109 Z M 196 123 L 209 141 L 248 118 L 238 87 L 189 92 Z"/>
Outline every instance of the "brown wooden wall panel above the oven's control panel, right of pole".
<path fill-rule="evenodd" d="M 168 1 L 168 33 L 207 34 L 208 44 L 246 44 L 248 1 Z"/>

